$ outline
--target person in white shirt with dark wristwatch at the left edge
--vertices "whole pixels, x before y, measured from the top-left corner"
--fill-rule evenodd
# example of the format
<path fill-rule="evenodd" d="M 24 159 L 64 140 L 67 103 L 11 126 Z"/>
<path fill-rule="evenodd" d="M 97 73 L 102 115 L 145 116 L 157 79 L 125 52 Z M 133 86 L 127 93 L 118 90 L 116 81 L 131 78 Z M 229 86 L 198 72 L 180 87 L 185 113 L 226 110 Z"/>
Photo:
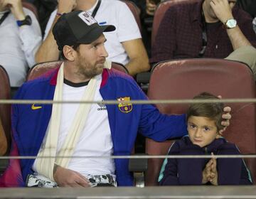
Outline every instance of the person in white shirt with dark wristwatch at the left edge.
<path fill-rule="evenodd" d="M 35 64 L 41 29 L 21 0 L 0 0 L 0 21 L 0 65 L 7 71 L 11 87 L 19 87 L 26 80 L 28 68 Z"/>

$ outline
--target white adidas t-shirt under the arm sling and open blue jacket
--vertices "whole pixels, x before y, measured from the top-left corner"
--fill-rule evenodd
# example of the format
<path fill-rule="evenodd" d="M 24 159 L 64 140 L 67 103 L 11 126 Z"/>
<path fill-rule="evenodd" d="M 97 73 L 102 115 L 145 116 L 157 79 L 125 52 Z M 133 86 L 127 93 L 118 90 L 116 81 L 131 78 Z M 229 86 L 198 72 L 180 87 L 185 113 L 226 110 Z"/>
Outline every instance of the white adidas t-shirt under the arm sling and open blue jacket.
<path fill-rule="evenodd" d="M 100 95 L 100 83 L 102 75 L 97 75 L 97 89 L 95 101 L 102 101 Z M 87 86 L 72 87 L 63 85 L 63 100 L 76 101 L 82 98 Z M 68 134 L 71 123 L 78 111 L 79 104 L 62 104 L 62 115 L 60 119 L 60 134 L 58 136 L 57 152 L 63 146 L 65 137 Z M 47 133 L 46 133 L 47 135 Z M 45 137 L 46 139 L 46 137 Z M 44 141 L 45 141 L 44 139 Z M 43 141 L 43 142 L 44 142 Z M 44 145 L 44 144 L 43 144 Z M 110 131 L 110 124 L 107 117 L 107 109 L 103 104 L 92 104 L 78 144 L 73 156 L 111 156 L 113 143 Z M 35 168 L 36 161 L 33 164 Z M 68 168 L 78 171 L 83 176 L 111 174 L 114 178 L 114 161 L 110 158 L 71 158 Z M 40 173 L 39 173 L 40 174 Z"/>

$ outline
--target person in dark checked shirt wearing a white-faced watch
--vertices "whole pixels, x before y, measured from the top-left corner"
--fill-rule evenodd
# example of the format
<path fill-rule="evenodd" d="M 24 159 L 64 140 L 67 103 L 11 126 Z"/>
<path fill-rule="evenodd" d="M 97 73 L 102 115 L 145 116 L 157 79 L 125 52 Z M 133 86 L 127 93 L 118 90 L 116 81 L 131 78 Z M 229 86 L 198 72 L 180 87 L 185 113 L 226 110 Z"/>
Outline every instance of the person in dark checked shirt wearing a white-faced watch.
<path fill-rule="evenodd" d="M 151 63 L 176 58 L 225 58 L 256 46 L 252 18 L 235 0 L 191 0 L 171 6 L 152 46 Z"/>

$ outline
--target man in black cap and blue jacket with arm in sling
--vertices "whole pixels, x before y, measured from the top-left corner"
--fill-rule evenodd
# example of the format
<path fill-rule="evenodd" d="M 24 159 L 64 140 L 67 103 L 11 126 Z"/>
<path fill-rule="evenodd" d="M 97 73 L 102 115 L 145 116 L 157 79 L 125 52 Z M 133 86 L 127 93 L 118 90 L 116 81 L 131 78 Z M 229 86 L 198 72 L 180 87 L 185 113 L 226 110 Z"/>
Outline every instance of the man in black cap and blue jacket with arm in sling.
<path fill-rule="evenodd" d="M 102 32 L 113 30 L 114 26 L 99 26 L 85 11 L 63 14 L 55 23 L 53 35 L 64 63 L 57 70 L 26 82 L 16 99 L 114 99 L 119 104 L 14 105 L 11 155 L 37 158 L 11 160 L 0 185 L 133 185 L 128 159 L 102 156 L 130 155 L 137 131 L 156 141 L 187 134 L 185 115 L 167 116 L 151 104 L 129 103 L 131 99 L 147 97 L 132 77 L 107 64 Z M 225 118 L 230 119 L 230 114 Z M 229 121 L 225 126 L 228 124 Z"/>

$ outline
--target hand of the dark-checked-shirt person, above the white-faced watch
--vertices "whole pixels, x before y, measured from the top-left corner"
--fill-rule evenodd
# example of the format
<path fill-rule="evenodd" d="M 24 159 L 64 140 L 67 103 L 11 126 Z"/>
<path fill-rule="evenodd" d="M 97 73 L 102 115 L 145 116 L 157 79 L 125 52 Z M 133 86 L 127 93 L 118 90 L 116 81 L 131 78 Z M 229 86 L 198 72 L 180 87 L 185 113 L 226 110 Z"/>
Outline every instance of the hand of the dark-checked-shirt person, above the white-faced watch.
<path fill-rule="evenodd" d="M 232 14 L 233 6 L 235 6 L 235 1 L 228 0 L 212 0 L 210 1 L 210 6 L 212 7 L 215 15 L 224 24 L 230 18 L 234 18 Z"/>

